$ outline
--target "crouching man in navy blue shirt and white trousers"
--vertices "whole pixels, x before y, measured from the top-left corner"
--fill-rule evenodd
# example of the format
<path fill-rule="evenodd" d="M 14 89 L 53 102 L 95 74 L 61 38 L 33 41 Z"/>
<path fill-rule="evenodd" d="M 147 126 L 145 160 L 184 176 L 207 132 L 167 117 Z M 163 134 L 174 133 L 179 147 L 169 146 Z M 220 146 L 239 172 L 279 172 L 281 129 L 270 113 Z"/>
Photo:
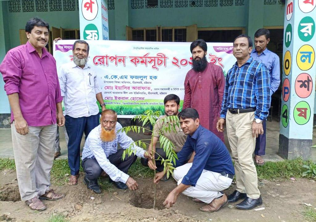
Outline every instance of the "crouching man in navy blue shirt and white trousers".
<path fill-rule="evenodd" d="M 178 153 L 173 178 L 178 182 L 163 202 L 172 207 L 180 193 L 193 198 L 198 203 L 206 203 L 201 211 L 214 212 L 224 207 L 228 201 L 221 191 L 227 189 L 234 178 L 234 167 L 228 150 L 214 133 L 200 126 L 199 115 L 193 108 L 186 108 L 179 114 L 180 126 L 188 135 L 182 150 Z M 193 163 L 186 163 L 195 151 Z M 165 171 L 166 172 L 166 171 Z M 156 174 L 155 183 L 164 172 Z"/>

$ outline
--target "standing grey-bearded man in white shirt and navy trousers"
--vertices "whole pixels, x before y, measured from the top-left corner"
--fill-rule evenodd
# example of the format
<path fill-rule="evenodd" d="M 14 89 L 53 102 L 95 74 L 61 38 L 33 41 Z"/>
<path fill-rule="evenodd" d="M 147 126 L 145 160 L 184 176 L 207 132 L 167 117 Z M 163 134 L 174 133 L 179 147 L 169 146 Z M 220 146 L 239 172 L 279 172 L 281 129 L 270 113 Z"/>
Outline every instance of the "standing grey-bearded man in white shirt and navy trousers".
<path fill-rule="evenodd" d="M 89 45 L 86 41 L 75 41 L 72 49 L 73 62 L 62 65 L 58 76 L 61 95 L 64 97 L 66 131 L 68 140 L 68 164 L 70 180 L 68 185 L 78 183 L 80 168 L 80 143 L 92 129 L 99 125 L 99 107 L 105 110 L 97 74 L 87 64 Z"/>

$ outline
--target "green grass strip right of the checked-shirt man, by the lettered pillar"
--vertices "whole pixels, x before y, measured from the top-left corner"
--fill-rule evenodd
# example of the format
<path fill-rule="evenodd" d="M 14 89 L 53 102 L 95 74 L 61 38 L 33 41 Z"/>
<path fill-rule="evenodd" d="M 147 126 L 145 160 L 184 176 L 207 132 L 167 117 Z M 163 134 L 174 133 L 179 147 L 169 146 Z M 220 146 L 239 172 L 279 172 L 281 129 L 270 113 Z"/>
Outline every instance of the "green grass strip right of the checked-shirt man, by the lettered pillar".
<path fill-rule="evenodd" d="M 263 166 L 256 166 L 259 179 L 275 180 L 290 177 L 300 178 L 306 171 L 303 165 L 309 165 L 311 160 L 303 161 L 301 158 L 295 160 L 283 160 L 278 162 L 266 162 Z M 307 178 L 312 178 L 307 176 Z"/>

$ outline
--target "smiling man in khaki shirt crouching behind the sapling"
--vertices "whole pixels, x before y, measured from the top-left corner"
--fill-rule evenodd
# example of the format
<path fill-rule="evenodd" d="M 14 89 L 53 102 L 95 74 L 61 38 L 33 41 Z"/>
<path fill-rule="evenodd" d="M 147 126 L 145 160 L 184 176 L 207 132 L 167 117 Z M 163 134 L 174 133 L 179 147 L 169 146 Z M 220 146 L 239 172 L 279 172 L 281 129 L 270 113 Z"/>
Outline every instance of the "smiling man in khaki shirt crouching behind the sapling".
<path fill-rule="evenodd" d="M 156 143 L 159 140 L 159 134 L 163 134 L 165 137 L 167 137 L 167 139 L 169 139 L 173 143 L 173 145 L 174 145 L 173 150 L 176 153 L 181 151 L 181 149 L 185 143 L 185 140 L 186 140 L 186 135 L 183 133 L 182 129 L 179 128 L 178 126 L 176 126 L 176 133 L 174 131 L 171 131 L 171 132 L 163 131 L 162 132 L 162 126 L 164 125 L 163 119 L 166 116 L 178 115 L 178 110 L 180 108 L 180 98 L 177 95 L 170 94 L 170 95 L 167 95 L 165 97 L 163 102 L 165 104 L 165 115 L 161 116 L 156 121 L 156 124 L 154 125 L 154 130 L 153 130 L 154 138 L 153 138 L 153 142 L 150 143 L 150 145 L 149 145 L 148 152 L 151 153 L 153 150 L 153 151 L 157 152 L 162 158 L 165 159 L 165 158 L 167 158 L 167 155 L 163 151 L 163 149 L 161 149 L 161 148 L 156 149 Z M 157 159 L 159 157 L 159 155 L 157 153 L 155 154 L 155 159 Z M 193 158 L 193 156 L 194 155 L 192 155 L 191 158 Z M 161 172 L 163 170 L 163 164 L 161 164 L 161 161 L 156 161 L 154 164 L 152 159 L 141 158 L 141 163 L 144 166 L 149 166 L 149 168 L 152 170 L 157 170 L 159 172 Z M 167 174 L 161 180 L 166 181 Z"/>

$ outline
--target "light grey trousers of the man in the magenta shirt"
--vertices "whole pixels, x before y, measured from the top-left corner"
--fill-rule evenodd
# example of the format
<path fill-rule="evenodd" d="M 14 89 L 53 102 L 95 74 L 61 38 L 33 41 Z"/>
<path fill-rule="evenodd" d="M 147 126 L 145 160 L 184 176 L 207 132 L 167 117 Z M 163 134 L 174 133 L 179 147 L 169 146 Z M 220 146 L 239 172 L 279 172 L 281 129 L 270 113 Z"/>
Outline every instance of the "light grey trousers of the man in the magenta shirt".
<path fill-rule="evenodd" d="M 20 135 L 14 121 L 11 123 L 16 176 L 23 201 L 45 194 L 51 185 L 57 125 L 28 128 L 28 134 Z"/>

